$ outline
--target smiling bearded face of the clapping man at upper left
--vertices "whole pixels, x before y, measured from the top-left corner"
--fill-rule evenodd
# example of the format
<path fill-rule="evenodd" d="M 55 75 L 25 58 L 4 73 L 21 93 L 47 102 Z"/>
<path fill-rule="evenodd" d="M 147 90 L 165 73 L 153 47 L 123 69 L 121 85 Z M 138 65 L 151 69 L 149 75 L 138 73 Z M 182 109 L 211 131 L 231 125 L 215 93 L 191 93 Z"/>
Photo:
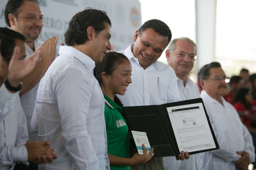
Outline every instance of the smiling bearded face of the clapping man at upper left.
<path fill-rule="evenodd" d="M 11 29 L 23 34 L 26 42 L 33 42 L 39 37 L 43 28 L 41 9 L 36 2 L 24 1 L 18 11 L 17 18 L 9 14 L 9 19 L 13 17 L 13 22 L 10 22 Z"/>

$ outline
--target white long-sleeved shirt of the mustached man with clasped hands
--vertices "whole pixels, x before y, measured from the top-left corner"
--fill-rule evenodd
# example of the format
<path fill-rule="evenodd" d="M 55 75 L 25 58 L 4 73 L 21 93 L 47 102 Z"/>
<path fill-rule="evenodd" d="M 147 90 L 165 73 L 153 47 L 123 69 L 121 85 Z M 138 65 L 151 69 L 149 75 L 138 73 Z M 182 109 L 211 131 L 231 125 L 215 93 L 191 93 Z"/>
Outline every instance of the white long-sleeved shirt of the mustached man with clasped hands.
<path fill-rule="evenodd" d="M 200 153 L 201 168 L 206 170 L 239 169 L 235 162 L 241 158 L 236 151 L 248 152 L 251 162 L 255 160 L 252 137 L 242 124 L 232 104 L 221 97 L 222 104 L 210 97 L 206 91 L 201 92 L 206 111 L 219 144 L 219 150 Z"/>

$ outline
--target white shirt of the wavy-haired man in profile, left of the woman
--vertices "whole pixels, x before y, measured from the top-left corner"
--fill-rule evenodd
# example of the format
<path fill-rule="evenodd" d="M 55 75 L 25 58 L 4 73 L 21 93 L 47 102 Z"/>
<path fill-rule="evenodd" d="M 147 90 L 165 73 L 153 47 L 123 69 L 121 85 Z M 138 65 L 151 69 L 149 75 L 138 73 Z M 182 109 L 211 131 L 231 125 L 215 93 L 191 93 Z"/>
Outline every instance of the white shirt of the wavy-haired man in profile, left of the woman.
<path fill-rule="evenodd" d="M 38 169 L 109 169 L 104 97 L 92 71 L 95 62 L 61 46 L 41 79 L 35 112 L 38 140 L 49 140 L 58 159 Z"/>

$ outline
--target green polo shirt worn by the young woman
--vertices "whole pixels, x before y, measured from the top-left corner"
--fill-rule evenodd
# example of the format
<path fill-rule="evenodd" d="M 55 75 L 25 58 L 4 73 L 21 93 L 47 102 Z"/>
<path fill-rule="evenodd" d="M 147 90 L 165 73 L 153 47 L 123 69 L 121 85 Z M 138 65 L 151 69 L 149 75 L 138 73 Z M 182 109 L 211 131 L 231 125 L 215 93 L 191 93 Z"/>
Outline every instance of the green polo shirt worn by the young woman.
<path fill-rule="evenodd" d="M 122 116 L 122 107 L 104 94 L 105 122 L 108 138 L 108 153 L 129 158 L 129 133 L 126 120 Z M 110 166 L 111 170 L 129 170 L 129 166 Z"/>

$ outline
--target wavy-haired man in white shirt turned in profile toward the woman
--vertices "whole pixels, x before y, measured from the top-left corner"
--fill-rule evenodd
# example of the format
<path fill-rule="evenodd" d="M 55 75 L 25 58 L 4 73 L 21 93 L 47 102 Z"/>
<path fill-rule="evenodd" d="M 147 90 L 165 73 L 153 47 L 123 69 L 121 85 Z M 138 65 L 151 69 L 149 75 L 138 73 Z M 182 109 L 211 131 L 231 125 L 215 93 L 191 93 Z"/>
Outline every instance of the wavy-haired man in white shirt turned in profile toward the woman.
<path fill-rule="evenodd" d="M 38 169 L 106 170 L 105 103 L 93 68 L 111 50 L 111 21 L 105 11 L 86 8 L 72 17 L 64 37 L 67 46 L 40 81 L 31 121 L 59 159 Z"/>

